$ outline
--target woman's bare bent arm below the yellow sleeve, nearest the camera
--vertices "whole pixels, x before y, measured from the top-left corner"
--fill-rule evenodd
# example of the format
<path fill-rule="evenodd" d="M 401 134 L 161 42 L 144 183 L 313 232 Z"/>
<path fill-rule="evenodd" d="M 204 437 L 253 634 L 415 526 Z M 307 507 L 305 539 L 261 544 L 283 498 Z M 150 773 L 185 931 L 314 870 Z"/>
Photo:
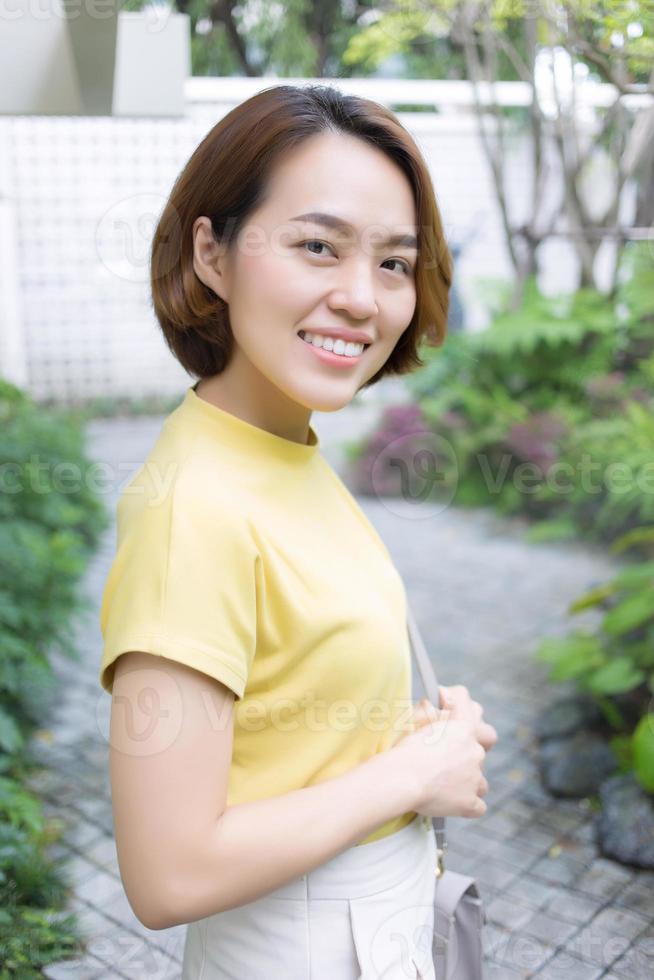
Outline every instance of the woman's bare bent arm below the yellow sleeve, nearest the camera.
<path fill-rule="evenodd" d="M 166 929 L 253 901 L 414 808 L 394 752 L 315 786 L 226 807 L 234 694 L 141 652 L 114 675 L 110 771 L 123 885 L 137 918 Z"/>

